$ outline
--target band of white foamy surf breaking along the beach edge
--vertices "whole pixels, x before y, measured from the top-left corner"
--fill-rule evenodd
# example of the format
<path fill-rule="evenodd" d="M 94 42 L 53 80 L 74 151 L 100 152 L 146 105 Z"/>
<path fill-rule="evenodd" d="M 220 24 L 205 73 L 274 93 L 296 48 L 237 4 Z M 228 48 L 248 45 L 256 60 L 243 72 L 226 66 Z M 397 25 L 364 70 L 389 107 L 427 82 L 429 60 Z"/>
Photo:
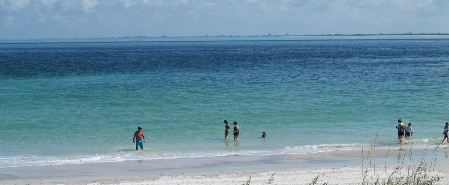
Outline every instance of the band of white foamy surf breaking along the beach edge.
<path fill-rule="evenodd" d="M 425 148 L 436 147 L 436 139 L 406 139 L 401 146 L 397 142 L 381 143 L 376 149 L 387 148 Z M 430 144 L 429 144 L 430 143 Z M 127 160 L 163 160 L 163 159 L 180 159 L 180 158 L 196 158 L 196 157 L 213 157 L 213 156 L 242 156 L 242 155 L 282 155 L 282 154 L 300 154 L 300 153 L 316 153 L 322 151 L 333 150 L 359 150 L 367 149 L 370 144 L 366 143 L 335 143 L 335 144 L 316 144 L 294 147 L 284 147 L 274 150 L 242 150 L 242 151 L 178 151 L 178 152 L 161 152 L 152 153 L 147 151 L 119 151 L 104 155 L 85 155 L 85 156 L 0 156 L 0 168 L 18 167 L 18 166 L 35 166 L 35 165 L 56 165 L 56 164 L 87 164 L 87 163 L 104 163 L 119 162 Z"/>

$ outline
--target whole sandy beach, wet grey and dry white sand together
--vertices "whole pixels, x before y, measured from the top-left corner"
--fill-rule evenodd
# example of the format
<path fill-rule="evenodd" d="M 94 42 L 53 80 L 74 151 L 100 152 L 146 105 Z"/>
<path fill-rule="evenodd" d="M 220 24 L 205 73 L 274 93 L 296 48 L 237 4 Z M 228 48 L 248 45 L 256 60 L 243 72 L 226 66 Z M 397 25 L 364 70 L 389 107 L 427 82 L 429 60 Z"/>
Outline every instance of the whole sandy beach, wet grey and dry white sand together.
<path fill-rule="evenodd" d="M 449 175 L 447 150 L 447 147 L 441 147 L 436 151 L 435 175 Z M 434 148 L 427 149 L 428 160 L 433 151 Z M 392 149 L 387 160 L 386 153 L 386 150 L 376 150 L 376 157 L 372 158 L 377 160 L 375 168 L 382 178 L 384 170 L 389 174 L 398 161 L 409 160 L 409 153 L 404 149 Z M 362 164 L 361 154 L 359 150 L 337 150 L 0 168 L 0 185 L 241 185 L 250 177 L 251 185 L 264 185 L 274 172 L 274 185 L 302 185 L 318 174 L 321 184 L 357 185 L 361 183 L 366 163 L 364 160 Z M 423 149 L 415 149 L 412 160 L 418 161 L 422 155 Z M 402 174 L 406 174 L 413 164 L 410 166 L 404 165 Z M 440 184 L 447 183 L 449 178 L 440 181 Z"/>

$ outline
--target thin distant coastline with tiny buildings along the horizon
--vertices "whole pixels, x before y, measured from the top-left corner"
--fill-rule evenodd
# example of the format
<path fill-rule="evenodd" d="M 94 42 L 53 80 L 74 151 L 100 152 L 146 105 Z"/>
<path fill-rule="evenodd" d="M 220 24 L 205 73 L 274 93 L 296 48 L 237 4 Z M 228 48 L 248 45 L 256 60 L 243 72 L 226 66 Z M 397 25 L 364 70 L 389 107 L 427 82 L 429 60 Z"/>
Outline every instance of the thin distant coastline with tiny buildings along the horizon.
<path fill-rule="evenodd" d="M 146 36 L 125 36 L 125 37 L 92 37 L 92 38 L 0 38 L 0 40 L 53 40 L 53 39 L 114 39 L 114 38 L 222 38 L 222 37 L 319 37 L 319 36 L 421 36 L 421 35 L 449 35 L 446 33 L 419 33 L 419 34 L 306 34 L 306 35 L 215 35 L 215 36 L 166 36 L 146 37 Z"/>

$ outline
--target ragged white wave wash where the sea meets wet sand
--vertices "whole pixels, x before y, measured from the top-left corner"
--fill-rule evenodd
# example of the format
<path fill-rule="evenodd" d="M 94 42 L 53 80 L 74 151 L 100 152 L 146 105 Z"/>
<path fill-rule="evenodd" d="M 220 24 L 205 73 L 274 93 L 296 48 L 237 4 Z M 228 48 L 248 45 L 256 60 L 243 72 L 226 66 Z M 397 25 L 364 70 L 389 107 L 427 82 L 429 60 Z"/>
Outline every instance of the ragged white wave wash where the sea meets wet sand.
<path fill-rule="evenodd" d="M 354 144 L 317 144 L 317 145 L 305 145 L 300 146 L 298 148 L 296 147 L 285 147 L 284 149 L 277 149 L 272 151 L 255 151 L 255 150 L 248 150 L 248 151 L 237 151 L 237 152 L 229 152 L 229 151 L 219 151 L 216 153 L 208 153 L 207 155 L 202 155 L 203 153 L 199 152 L 199 155 L 197 156 L 189 156 L 190 153 L 186 153 L 186 156 L 165 156 L 160 158 L 154 158 L 154 155 L 151 153 L 151 149 L 149 151 L 136 151 L 135 150 L 128 150 L 128 153 L 125 152 L 121 153 L 110 153 L 110 154 L 91 154 L 91 155 L 85 155 L 85 156 L 70 156 L 70 157 L 51 157 L 51 156 L 43 156 L 39 158 L 37 161 L 32 161 L 33 159 L 28 159 L 27 157 L 21 157 L 17 156 L 16 159 L 14 159 L 17 162 L 12 163 L 3 163 L 0 165 L 1 168 L 14 168 L 14 167 L 32 167 L 32 166 L 52 166 L 52 165 L 66 165 L 66 164 L 96 164 L 96 163 L 111 163 L 111 162 L 125 162 L 125 161 L 136 161 L 136 160 L 176 160 L 176 159 L 194 159 L 194 158 L 207 158 L 207 157 L 224 157 L 224 156 L 276 156 L 276 155 L 308 155 L 308 154 L 317 154 L 321 152 L 331 152 L 331 151 L 361 151 L 362 149 L 366 150 L 369 145 L 368 144 L 360 144 L 355 143 Z M 425 148 L 432 149 L 437 146 L 437 143 L 432 144 L 404 144 L 404 145 L 390 145 L 388 146 L 377 146 L 376 151 L 382 151 L 387 150 L 390 148 L 391 150 L 396 150 L 401 147 L 403 148 L 409 148 L 413 147 L 414 150 L 424 150 Z M 449 144 L 442 143 L 441 148 L 448 148 Z M 351 153 L 351 152 L 350 152 Z M 129 157 L 127 155 L 132 155 L 132 157 Z M 32 158 L 32 157 L 30 157 Z M 22 163 L 22 161 L 25 161 Z"/>

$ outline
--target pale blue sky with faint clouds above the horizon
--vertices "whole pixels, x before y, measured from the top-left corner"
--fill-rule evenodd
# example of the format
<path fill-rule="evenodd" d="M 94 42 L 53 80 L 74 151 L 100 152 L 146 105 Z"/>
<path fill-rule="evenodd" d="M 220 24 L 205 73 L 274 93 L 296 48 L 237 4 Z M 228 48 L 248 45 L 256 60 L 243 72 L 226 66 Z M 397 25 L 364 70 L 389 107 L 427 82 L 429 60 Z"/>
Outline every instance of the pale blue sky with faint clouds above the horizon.
<path fill-rule="evenodd" d="M 0 0 L 0 38 L 449 33 L 449 0 Z"/>

